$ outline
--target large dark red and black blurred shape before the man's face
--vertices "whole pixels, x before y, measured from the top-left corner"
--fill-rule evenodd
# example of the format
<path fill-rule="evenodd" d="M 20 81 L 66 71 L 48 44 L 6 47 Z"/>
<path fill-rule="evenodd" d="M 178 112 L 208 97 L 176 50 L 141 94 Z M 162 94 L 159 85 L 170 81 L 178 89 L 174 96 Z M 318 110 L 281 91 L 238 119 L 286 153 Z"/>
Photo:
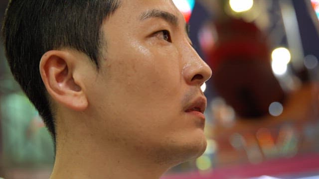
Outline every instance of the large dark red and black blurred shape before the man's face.
<path fill-rule="evenodd" d="M 214 22 L 217 41 L 207 52 L 215 89 L 245 118 L 268 114 L 285 93 L 271 67 L 266 36 L 254 23 L 224 18 Z"/>

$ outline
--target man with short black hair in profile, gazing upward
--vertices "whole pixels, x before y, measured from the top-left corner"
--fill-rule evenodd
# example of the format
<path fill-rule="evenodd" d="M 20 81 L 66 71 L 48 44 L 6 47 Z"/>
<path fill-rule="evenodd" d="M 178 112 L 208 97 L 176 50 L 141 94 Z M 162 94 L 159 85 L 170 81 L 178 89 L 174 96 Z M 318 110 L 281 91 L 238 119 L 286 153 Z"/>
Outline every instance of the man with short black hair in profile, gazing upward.
<path fill-rule="evenodd" d="M 3 37 L 56 143 L 51 179 L 158 179 L 205 150 L 211 70 L 171 0 L 11 0 Z"/>

